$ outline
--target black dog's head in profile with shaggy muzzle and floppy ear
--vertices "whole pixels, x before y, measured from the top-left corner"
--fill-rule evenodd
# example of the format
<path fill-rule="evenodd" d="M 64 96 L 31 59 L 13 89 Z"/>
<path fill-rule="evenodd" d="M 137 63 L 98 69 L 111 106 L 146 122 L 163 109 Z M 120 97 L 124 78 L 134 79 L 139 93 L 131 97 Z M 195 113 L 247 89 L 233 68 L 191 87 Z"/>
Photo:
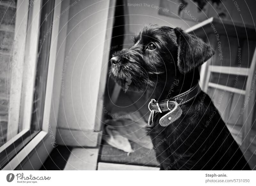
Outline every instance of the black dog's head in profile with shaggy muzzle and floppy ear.
<path fill-rule="evenodd" d="M 158 83 L 193 72 L 214 51 L 203 40 L 180 28 L 146 26 L 134 45 L 113 54 L 110 76 L 123 88 L 154 88 Z"/>

